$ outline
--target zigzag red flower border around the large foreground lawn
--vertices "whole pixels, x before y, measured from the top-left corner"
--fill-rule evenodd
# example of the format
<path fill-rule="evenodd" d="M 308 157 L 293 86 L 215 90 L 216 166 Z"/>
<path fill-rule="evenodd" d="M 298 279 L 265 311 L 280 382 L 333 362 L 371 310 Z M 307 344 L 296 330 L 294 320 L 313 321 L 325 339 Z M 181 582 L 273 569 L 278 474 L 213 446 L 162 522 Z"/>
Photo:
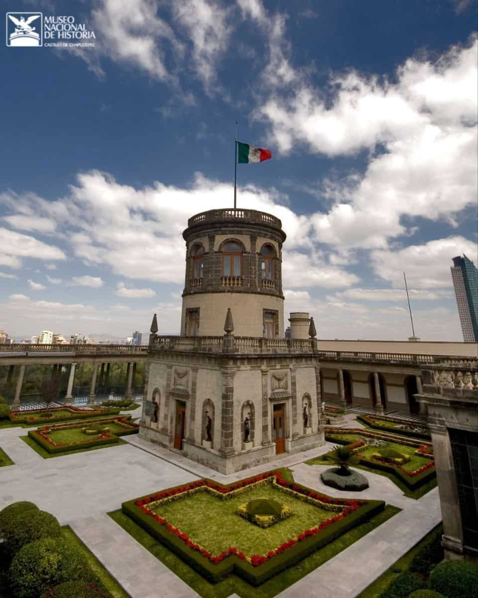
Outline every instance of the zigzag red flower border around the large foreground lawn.
<path fill-rule="evenodd" d="M 176 496 L 183 492 L 189 492 L 201 486 L 206 486 L 210 489 L 216 490 L 216 492 L 220 492 L 222 495 L 225 495 L 229 492 L 234 492 L 234 490 L 237 490 L 239 488 L 243 488 L 244 486 L 249 486 L 250 484 L 255 484 L 259 481 L 268 480 L 272 478 L 275 478 L 275 482 L 279 486 L 289 488 L 290 490 L 293 490 L 294 492 L 300 495 L 310 497 L 312 499 L 324 502 L 326 504 L 328 503 L 334 505 L 344 505 L 345 508 L 343 511 L 339 512 L 333 517 L 330 517 L 329 519 L 322 521 L 317 527 L 307 529 L 304 532 L 300 533 L 298 536 L 296 536 L 295 539 L 290 539 L 287 542 L 284 542 L 284 544 L 281 544 L 280 546 L 275 548 L 275 550 L 270 550 L 266 555 L 253 554 L 250 557 L 250 559 L 247 559 L 246 555 L 238 551 L 235 547 L 230 547 L 228 550 L 223 551 L 222 553 L 217 555 L 210 554 L 209 551 L 206 550 L 206 548 L 203 548 L 199 544 L 196 544 L 194 541 L 192 541 L 192 539 L 189 538 L 188 534 L 182 532 L 178 527 L 174 527 L 173 525 L 171 525 L 171 523 L 168 523 L 168 521 L 164 517 L 160 517 L 160 515 L 154 513 L 153 511 L 151 511 L 151 509 L 147 507 L 147 505 L 151 504 L 152 502 L 161 501 L 165 498 L 170 498 L 171 496 Z M 335 523 L 335 521 L 339 521 L 344 517 L 347 517 L 347 515 L 349 515 L 353 511 L 356 511 L 360 507 L 360 505 L 365 504 L 366 502 L 367 501 L 357 501 L 348 499 L 331 499 L 329 496 L 323 495 L 320 492 L 315 492 L 314 490 L 309 490 L 303 486 L 299 486 L 299 484 L 290 483 L 286 480 L 283 480 L 280 471 L 268 471 L 256 477 L 248 478 L 247 480 L 231 484 L 231 486 L 222 486 L 220 484 L 216 484 L 211 480 L 197 480 L 192 482 L 191 484 L 188 484 L 187 486 L 178 486 L 177 488 L 164 490 L 163 492 L 160 492 L 158 494 L 139 499 L 135 501 L 134 504 L 136 504 L 136 506 L 139 507 L 143 512 L 154 518 L 154 520 L 157 521 L 159 524 L 165 526 L 168 532 L 173 533 L 175 536 L 177 536 L 177 538 L 181 539 L 186 545 L 188 545 L 189 548 L 191 548 L 191 550 L 196 550 L 200 552 L 204 557 L 209 559 L 210 562 L 220 563 L 222 560 L 226 559 L 232 554 L 235 554 L 240 559 L 249 560 L 253 566 L 258 567 L 260 565 L 263 565 L 263 563 L 268 562 L 268 560 L 274 558 L 277 554 L 281 554 L 284 551 L 289 550 L 289 548 L 292 548 L 298 542 L 302 542 L 306 538 L 315 536 L 317 533 L 320 533 L 322 530 L 332 525 L 332 523 Z"/>

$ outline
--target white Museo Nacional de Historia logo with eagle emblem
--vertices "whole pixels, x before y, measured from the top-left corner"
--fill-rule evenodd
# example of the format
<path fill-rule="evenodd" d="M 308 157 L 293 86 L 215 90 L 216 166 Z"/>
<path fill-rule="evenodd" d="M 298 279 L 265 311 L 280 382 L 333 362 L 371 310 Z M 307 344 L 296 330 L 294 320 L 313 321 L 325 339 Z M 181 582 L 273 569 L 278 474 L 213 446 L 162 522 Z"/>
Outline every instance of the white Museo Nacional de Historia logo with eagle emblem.
<path fill-rule="evenodd" d="M 29 47 L 94 47 L 96 35 L 73 16 L 7 13 L 7 45 Z"/>

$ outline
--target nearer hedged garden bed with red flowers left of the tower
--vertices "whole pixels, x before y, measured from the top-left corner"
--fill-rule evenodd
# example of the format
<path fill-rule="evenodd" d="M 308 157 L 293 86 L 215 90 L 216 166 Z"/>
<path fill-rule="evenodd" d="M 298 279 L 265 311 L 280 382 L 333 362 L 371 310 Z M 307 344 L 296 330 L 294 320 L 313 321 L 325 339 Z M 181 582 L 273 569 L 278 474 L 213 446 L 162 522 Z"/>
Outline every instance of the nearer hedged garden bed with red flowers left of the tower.
<path fill-rule="evenodd" d="M 118 444 L 119 437 L 137 434 L 138 429 L 131 416 L 114 416 L 88 422 L 53 423 L 30 430 L 27 437 L 20 438 L 41 456 L 48 457 Z"/>

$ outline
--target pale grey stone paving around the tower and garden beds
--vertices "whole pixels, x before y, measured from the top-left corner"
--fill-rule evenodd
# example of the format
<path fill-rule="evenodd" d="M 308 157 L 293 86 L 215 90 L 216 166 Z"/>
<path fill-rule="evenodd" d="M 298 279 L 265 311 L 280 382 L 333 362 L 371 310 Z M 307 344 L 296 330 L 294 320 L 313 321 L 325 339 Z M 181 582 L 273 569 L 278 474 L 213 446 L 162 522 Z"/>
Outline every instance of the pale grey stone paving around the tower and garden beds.
<path fill-rule="evenodd" d="M 357 422 L 348 421 L 347 425 L 357 426 Z M 125 437 L 128 444 L 122 446 L 42 459 L 20 440 L 19 436 L 26 434 L 24 428 L 0 430 L 0 447 L 16 463 L 0 468 L 0 508 L 30 500 L 53 513 L 61 524 L 75 530 L 131 598 L 194 598 L 197 594 L 106 515 L 120 508 L 121 502 L 198 477 L 227 484 L 277 467 L 290 467 L 299 483 L 331 493 L 320 480 L 325 466 L 303 463 L 330 450 L 329 443 L 226 476 L 136 436 Z M 388 478 L 369 472 L 365 475 L 370 489 L 360 496 L 384 499 L 403 511 L 281 596 L 353 598 L 439 523 L 436 489 L 414 501 L 403 496 Z M 332 493 L 357 494 L 339 490 Z"/>

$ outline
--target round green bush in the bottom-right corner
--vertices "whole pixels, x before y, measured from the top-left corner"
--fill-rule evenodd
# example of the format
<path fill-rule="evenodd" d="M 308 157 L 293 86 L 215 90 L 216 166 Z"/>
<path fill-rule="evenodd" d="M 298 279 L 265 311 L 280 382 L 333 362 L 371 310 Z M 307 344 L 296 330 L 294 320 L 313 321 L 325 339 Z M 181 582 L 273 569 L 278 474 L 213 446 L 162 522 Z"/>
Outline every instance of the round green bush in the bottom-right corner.
<path fill-rule="evenodd" d="M 478 565 L 465 561 L 443 561 L 430 573 L 430 588 L 446 598 L 478 596 Z"/>

